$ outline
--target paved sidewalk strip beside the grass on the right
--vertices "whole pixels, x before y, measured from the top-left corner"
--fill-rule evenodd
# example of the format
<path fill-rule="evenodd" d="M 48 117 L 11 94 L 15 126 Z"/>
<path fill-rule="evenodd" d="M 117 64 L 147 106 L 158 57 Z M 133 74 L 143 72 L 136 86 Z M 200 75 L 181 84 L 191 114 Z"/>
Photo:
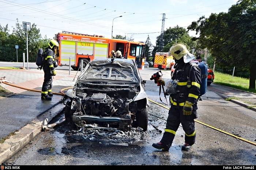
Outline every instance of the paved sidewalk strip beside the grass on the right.
<path fill-rule="evenodd" d="M 218 84 L 211 84 L 210 86 L 207 86 L 207 90 L 217 93 L 226 100 L 256 111 L 256 94 Z"/>

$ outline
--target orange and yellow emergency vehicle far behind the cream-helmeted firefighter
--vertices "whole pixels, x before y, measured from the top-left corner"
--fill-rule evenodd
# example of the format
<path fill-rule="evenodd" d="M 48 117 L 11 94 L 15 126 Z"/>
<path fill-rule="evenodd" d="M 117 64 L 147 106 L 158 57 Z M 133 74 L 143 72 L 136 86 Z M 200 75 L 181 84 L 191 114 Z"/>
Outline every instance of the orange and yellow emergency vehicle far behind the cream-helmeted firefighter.
<path fill-rule="evenodd" d="M 154 60 L 154 68 L 159 69 L 171 69 L 175 64 L 173 56 L 169 55 L 169 52 L 156 52 Z"/>

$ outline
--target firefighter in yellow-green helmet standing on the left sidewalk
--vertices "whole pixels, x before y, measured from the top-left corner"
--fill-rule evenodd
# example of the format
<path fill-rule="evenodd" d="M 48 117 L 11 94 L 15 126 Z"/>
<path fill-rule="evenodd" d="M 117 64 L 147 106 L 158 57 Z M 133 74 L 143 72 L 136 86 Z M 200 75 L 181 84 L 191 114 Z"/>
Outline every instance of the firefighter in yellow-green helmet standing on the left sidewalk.
<path fill-rule="evenodd" d="M 59 47 L 59 43 L 56 40 L 50 40 L 48 43 L 48 48 L 44 52 L 44 83 L 42 86 L 41 99 L 52 100 L 52 76 L 56 75 L 54 69 L 55 64 L 55 51 Z"/>

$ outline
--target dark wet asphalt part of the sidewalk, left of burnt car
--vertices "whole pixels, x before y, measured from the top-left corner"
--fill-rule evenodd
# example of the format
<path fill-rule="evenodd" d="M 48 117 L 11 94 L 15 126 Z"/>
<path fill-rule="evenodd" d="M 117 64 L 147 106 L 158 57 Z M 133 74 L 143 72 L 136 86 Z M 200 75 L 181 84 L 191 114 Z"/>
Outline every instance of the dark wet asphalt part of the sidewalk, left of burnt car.
<path fill-rule="evenodd" d="M 64 86 L 54 86 L 59 91 Z M 35 88 L 41 90 L 41 88 Z M 56 105 L 62 96 L 54 95 L 51 101 L 41 100 L 41 93 L 25 91 L 0 101 L 0 139 L 18 130 L 49 108 Z M 11 104 L 11 105 L 10 105 Z"/>

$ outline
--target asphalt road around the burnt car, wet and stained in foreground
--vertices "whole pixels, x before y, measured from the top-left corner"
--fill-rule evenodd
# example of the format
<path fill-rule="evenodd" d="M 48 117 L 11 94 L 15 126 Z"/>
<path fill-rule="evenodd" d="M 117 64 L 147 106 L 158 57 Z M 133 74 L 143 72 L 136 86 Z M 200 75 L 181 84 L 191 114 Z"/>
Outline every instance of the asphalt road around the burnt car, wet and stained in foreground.
<path fill-rule="evenodd" d="M 155 70 L 151 70 L 154 72 Z M 146 74 L 146 73 L 145 73 Z M 150 76 L 148 73 L 147 76 Z M 158 87 L 147 81 L 148 98 L 159 102 Z M 162 96 L 163 99 L 163 96 Z M 198 103 L 198 119 L 249 141 L 256 140 L 255 112 L 223 100 L 207 91 Z M 168 110 L 153 103 L 148 112 L 166 119 Z M 179 127 L 169 152 L 154 149 L 165 128 L 165 120 L 149 116 L 148 131 L 137 133 L 132 142 L 114 143 L 86 138 L 86 133 L 63 125 L 43 132 L 5 164 L 8 165 L 256 165 L 256 146 L 196 123 L 196 143 L 181 151 L 184 131 Z M 122 139 L 123 140 L 123 139 Z"/>

